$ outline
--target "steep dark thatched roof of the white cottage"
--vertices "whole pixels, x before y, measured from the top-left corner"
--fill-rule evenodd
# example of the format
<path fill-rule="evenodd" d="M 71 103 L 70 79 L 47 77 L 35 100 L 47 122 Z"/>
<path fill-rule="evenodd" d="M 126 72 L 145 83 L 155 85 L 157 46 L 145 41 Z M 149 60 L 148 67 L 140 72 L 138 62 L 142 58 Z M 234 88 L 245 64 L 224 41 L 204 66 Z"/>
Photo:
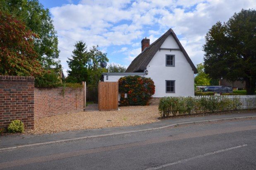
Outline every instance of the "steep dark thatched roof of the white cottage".
<path fill-rule="evenodd" d="M 142 51 L 141 54 L 134 58 L 134 60 L 132 61 L 132 63 L 129 65 L 125 72 L 141 72 L 145 70 L 148 63 L 152 60 L 153 56 L 155 56 L 156 52 L 160 49 L 161 45 L 170 34 L 174 37 L 176 43 L 179 46 L 179 49 L 182 51 L 187 61 L 191 65 L 191 68 L 194 71 L 194 73 L 197 73 L 195 65 L 189 58 L 187 52 L 182 47 L 182 44 L 179 42 L 177 36 L 175 35 L 171 28 L 166 33 L 164 33 L 160 38 L 158 38 L 155 42 L 153 42 L 150 46 L 144 49 L 144 51 Z"/>

